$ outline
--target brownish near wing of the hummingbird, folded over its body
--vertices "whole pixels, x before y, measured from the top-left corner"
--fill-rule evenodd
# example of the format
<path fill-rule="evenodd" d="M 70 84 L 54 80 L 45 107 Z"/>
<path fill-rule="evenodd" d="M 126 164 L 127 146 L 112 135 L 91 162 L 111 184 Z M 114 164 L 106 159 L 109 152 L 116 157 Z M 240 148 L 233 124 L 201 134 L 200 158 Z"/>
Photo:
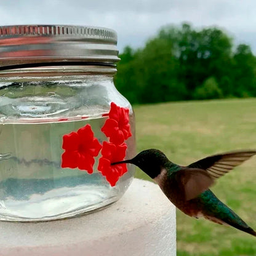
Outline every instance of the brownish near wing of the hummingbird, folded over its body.
<path fill-rule="evenodd" d="M 177 191 L 180 191 L 186 201 L 196 198 L 214 183 L 214 179 L 205 170 L 186 167 L 174 172 L 170 180 L 176 183 L 172 187 L 178 188 Z"/>

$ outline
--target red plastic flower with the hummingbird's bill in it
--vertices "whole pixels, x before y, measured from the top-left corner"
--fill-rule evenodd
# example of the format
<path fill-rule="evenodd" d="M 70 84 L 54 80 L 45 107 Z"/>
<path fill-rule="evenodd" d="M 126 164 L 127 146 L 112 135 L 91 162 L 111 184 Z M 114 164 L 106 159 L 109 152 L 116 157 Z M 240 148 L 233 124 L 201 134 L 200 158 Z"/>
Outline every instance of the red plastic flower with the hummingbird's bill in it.
<path fill-rule="evenodd" d="M 127 145 L 114 145 L 113 143 L 103 142 L 102 157 L 98 161 L 98 170 L 106 177 L 111 186 L 116 185 L 119 177 L 127 172 L 126 164 L 116 164 L 111 166 L 111 162 L 124 160 Z"/>

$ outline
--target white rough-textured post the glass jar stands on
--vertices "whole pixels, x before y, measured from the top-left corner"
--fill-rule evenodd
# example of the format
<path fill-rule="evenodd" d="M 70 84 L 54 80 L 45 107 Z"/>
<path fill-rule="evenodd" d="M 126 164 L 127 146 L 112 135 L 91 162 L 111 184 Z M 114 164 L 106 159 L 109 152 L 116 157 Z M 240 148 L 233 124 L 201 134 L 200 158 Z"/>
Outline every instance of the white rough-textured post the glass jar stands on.
<path fill-rule="evenodd" d="M 160 188 L 134 179 L 106 209 L 41 223 L 0 222 L 0 255 L 174 256 L 175 207 Z"/>

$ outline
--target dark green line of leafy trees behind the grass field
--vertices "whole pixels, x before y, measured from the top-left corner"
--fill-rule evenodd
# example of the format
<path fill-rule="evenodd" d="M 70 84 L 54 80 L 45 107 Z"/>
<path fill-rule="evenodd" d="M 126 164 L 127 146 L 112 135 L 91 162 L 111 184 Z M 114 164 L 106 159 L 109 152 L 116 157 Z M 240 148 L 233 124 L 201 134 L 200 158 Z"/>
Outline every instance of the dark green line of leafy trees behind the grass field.
<path fill-rule="evenodd" d="M 256 96 L 256 57 L 219 28 L 164 26 L 119 57 L 115 84 L 131 103 Z"/>

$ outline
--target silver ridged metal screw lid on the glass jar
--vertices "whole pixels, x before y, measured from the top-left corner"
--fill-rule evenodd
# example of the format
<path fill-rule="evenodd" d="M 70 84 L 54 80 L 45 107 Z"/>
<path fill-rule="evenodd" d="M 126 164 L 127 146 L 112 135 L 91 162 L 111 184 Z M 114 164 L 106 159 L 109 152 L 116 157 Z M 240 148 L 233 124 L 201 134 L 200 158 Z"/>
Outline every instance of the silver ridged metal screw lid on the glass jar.
<path fill-rule="evenodd" d="M 107 28 L 66 25 L 0 26 L 0 67 L 42 63 L 119 61 L 117 34 Z"/>

